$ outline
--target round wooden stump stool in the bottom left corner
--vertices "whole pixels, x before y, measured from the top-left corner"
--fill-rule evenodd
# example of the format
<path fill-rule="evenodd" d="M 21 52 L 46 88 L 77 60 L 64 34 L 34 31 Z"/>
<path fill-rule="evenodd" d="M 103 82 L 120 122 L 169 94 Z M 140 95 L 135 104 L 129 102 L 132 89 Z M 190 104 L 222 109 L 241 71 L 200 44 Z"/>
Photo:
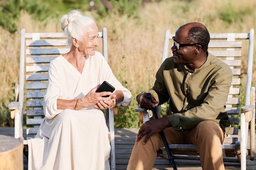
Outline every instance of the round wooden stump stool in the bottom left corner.
<path fill-rule="evenodd" d="M 0 135 L 0 170 L 23 170 L 22 141 Z"/>

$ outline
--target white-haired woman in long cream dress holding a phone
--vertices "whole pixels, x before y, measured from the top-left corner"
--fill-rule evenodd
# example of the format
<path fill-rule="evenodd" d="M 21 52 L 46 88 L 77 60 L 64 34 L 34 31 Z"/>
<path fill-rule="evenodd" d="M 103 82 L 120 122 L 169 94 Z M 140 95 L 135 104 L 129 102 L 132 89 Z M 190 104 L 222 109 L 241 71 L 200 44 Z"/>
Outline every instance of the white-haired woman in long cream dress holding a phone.
<path fill-rule="evenodd" d="M 72 10 L 61 18 L 61 28 L 70 51 L 49 64 L 45 120 L 29 140 L 29 170 L 108 169 L 108 127 L 100 109 L 111 108 L 117 101 L 126 107 L 132 96 L 95 51 L 99 34 L 91 18 Z M 97 93 L 103 81 L 115 91 Z"/>

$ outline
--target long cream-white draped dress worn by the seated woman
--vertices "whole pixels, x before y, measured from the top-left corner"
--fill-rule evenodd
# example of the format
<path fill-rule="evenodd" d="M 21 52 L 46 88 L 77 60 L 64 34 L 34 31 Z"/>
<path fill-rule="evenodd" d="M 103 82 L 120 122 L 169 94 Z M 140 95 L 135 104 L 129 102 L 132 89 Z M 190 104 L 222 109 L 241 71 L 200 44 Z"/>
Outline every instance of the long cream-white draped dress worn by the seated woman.
<path fill-rule="evenodd" d="M 57 98 L 76 99 L 103 81 L 123 91 L 121 106 L 132 96 L 113 75 L 101 53 L 87 56 L 83 72 L 62 55 L 49 64 L 44 97 L 45 120 L 34 139 L 28 140 L 28 170 L 105 170 L 109 168 L 110 143 L 104 113 L 92 107 L 57 109 Z M 106 167 L 105 167 L 106 165 Z"/>

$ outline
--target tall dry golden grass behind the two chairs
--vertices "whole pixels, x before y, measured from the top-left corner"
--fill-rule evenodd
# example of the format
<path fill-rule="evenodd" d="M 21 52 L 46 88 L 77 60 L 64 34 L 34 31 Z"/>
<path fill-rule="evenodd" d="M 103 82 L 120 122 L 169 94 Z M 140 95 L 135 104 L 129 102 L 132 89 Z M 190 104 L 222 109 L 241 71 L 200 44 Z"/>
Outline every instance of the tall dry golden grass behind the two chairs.
<path fill-rule="evenodd" d="M 86 14 L 95 18 L 99 30 L 102 27 L 108 29 L 110 67 L 119 79 L 127 82 L 126 86 L 135 97 L 140 91 L 153 86 L 155 73 L 161 63 L 166 29 L 175 33 L 182 24 L 201 22 L 212 33 L 249 32 L 250 28 L 256 28 L 254 9 L 255 0 L 162 0 L 139 8 L 138 18 L 112 13 L 104 19 L 98 19 L 93 12 Z M 229 11 L 231 14 L 232 11 L 238 13 L 234 16 L 234 19 L 238 18 L 237 21 L 228 23 L 220 19 L 221 12 Z M 25 28 L 26 32 L 61 32 L 59 22 L 59 18 L 44 23 L 35 22 L 24 13 L 19 27 Z M 2 28 L 0 34 L 0 101 L 3 104 L 0 111 L 3 113 L 13 97 L 13 84 L 18 83 L 20 34 L 11 35 Z M 98 50 L 101 51 L 100 48 Z M 3 118 L 2 115 L 0 119 Z"/>

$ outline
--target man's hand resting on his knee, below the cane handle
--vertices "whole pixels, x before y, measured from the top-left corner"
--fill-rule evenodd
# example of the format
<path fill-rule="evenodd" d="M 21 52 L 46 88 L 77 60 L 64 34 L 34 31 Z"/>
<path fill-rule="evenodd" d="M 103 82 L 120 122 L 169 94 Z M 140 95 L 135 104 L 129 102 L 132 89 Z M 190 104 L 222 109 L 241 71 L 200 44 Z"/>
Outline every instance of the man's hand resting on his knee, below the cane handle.
<path fill-rule="evenodd" d="M 168 127 L 171 127 L 171 125 L 167 117 L 146 121 L 141 125 L 136 141 L 139 141 L 144 135 L 147 135 L 143 141 L 143 144 L 146 144 L 150 136 L 155 135 Z"/>

